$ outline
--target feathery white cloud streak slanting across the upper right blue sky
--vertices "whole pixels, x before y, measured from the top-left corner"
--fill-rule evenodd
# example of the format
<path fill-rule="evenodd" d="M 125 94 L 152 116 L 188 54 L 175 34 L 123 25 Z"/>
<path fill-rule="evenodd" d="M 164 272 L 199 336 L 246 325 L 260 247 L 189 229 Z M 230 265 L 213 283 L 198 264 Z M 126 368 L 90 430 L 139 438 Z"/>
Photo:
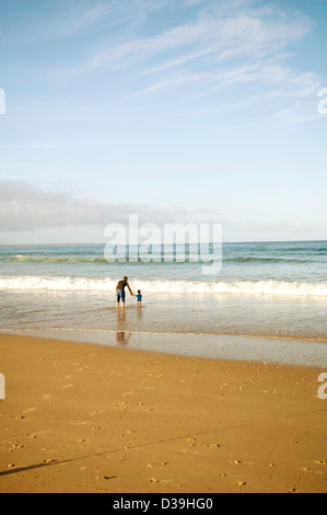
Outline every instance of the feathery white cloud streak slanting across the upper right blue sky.
<path fill-rule="evenodd" d="M 211 66 L 222 57 L 262 58 L 280 52 L 313 27 L 311 20 L 299 13 L 287 18 L 284 12 L 272 11 L 272 8 L 247 9 L 238 13 L 221 5 L 219 2 L 209 13 L 200 10 L 195 22 L 182 23 L 151 37 L 131 38 L 114 46 L 108 42 L 107 48 L 84 61 L 79 71 L 102 67 L 117 69 L 152 57 L 161 60 L 157 72 L 208 55 Z M 171 50 L 176 55 L 173 60 L 167 60 L 166 54 Z"/>

